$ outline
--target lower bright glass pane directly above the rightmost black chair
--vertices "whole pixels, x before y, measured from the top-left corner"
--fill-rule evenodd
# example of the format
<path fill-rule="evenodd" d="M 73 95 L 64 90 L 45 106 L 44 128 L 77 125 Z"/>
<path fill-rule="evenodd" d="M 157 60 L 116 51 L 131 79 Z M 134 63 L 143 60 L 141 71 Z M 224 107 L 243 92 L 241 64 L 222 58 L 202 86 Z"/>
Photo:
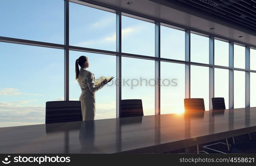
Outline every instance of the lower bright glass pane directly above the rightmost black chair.
<path fill-rule="evenodd" d="M 229 71 L 214 68 L 214 97 L 223 97 L 226 109 L 229 108 Z"/>

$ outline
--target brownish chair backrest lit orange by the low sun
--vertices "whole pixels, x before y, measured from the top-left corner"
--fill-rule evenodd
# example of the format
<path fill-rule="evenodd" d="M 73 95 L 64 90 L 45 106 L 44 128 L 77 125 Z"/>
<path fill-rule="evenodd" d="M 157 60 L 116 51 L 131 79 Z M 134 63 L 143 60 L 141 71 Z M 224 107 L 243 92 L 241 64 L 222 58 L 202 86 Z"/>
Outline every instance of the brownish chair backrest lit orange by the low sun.
<path fill-rule="evenodd" d="M 184 99 L 185 112 L 205 111 L 204 99 L 190 98 Z"/>

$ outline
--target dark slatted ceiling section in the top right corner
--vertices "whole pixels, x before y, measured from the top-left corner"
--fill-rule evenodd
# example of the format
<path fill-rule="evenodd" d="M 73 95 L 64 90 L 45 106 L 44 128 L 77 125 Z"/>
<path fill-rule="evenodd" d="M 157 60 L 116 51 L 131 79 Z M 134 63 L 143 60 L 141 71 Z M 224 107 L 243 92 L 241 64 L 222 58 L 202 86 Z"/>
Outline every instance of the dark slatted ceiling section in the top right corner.
<path fill-rule="evenodd" d="M 256 0 L 167 1 L 177 3 L 256 32 Z"/>

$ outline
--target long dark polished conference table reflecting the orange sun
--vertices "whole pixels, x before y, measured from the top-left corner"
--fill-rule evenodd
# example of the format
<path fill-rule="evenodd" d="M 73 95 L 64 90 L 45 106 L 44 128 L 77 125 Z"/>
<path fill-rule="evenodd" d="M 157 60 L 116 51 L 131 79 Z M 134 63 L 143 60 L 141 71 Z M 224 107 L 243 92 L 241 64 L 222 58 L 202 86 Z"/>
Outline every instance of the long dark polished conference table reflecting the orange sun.
<path fill-rule="evenodd" d="M 0 128 L 0 153 L 162 153 L 256 131 L 256 107 Z"/>

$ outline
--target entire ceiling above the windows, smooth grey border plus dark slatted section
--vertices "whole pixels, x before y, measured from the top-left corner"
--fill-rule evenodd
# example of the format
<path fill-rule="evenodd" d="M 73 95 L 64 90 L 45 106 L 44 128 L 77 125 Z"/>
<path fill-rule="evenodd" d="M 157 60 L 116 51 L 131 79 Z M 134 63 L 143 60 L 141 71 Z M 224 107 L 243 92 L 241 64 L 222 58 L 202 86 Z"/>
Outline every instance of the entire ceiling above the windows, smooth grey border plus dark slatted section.
<path fill-rule="evenodd" d="M 200 31 L 206 34 L 212 34 L 216 37 L 223 37 L 225 39 L 229 39 L 229 40 L 244 43 L 244 44 L 249 44 L 256 47 L 256 27 L 254 26 L 256 25 L 256 22 L 255 20 L 252 19 L 256 17 L 256 15 L 253 16 L 252 14 L 246 14 L 244 15 L 244 16 L 247 16 L 246 18 L 241 18 L 238 14 L 239 12 L 240 14 L 241 13 L 245 14 L 248 12 L 249 9 L 243 12 L 241 12 L 240 10 L 245 9 L 245 7 L 242 7 L 241 3 L 247 4 L 246 6 L 248 7 L 249 0 L 246 1 L 247 3 L 245 2 L 245 0 L 241 2 L 239 2 L 239 0 L 233 0 L 237 2 L 235 3 L 236 7 L 231 5 L 228 6 L 233 10 L 235 10 L 235 8 L 237 9 L 236 12 L 233 11 L 233 15 L 231 15 L 232 17 L 230 17 L 229 14 L 226 14 L 226 15 L 214 14 L 213 12 L 217 12 L 217 11 L 210 9 L 209 4 L 207 4 L 206 2 L 201 2 L 201 0 L 72 0 L 72 1 L 92 2 L 94 4 L 99 4 L 99 5 L 103 5 L 113 9 L 122 10 L 124 12 L 128 12 L 131 14 L 145 16 L 155 20 L 161 20 L 166 23 L 171 23 L 172 25 L 181 26 L 183 28 L 189 28 L 191 30 Z M 195 3 L 197 1 L 198 3 Z M 221 1 L 222 2 L 221 4 L 223 6 L 225 5 L 223 2 L 224 0 L 223 1 L 211 0 L 211 1 L 212 2 L 214 1 L 214 3 L 215 1 L 218 3 Z M 254 1 L 256 0 L 253 0 L 253 3 L 251 4 L 252 9 L 255 8 Z M 132 4 L 128 5 L 127 2 L 132 2 Z M 186 5 L 184 2 L 186 2 Z M 229 1 L 225 0 L 225 2 L 231 3 L 230 0 Z M 192 6 L 191 4 L 194 4 L 194 6 Z M 202 4 L 207 6 L 209 9 L 203 10 L 203 9 L 206 9 L 207 7 L 205 7 L 204 5 L 202 6 Z M 218 7 L 221 7 L 222 5 L 220 5 L 219 3 Z M 241 6 L 241 9 L 237 8 L 238 5 Z M 221 7 L 223 10 L 220 8 L 216 8 L 216 10 L 221 10 L 222 13 L 225 13 L 225 12 L 227 13 L 227 11 L 232 12 L 231 9 L 227 8 L 227 5 L 225 7 L 223 6 Z M 215 7 L 212 7 L 212 8 L 215 8 Z M 224 11 L 224 10 L 227 10 L 227 11 Z M 252 12 L 255 13 L 255 10 L 251 11 L 251 13 Z M 234 16 L 235 13 L 236 13 L 236 18 L 233 18 L 235 17 Z M 243 20 L 243 22 L 241 20 Z M 247 23 L 245 23 L 244 21 L 246 21 Z M 252 25 L 249 25 L 249 24 L 252 24 Z M 212 30 L 211 28 L 215 28 L 215 29 Z M 242 38 L 239 38 L 239 36 L 242 36 Z"/>

